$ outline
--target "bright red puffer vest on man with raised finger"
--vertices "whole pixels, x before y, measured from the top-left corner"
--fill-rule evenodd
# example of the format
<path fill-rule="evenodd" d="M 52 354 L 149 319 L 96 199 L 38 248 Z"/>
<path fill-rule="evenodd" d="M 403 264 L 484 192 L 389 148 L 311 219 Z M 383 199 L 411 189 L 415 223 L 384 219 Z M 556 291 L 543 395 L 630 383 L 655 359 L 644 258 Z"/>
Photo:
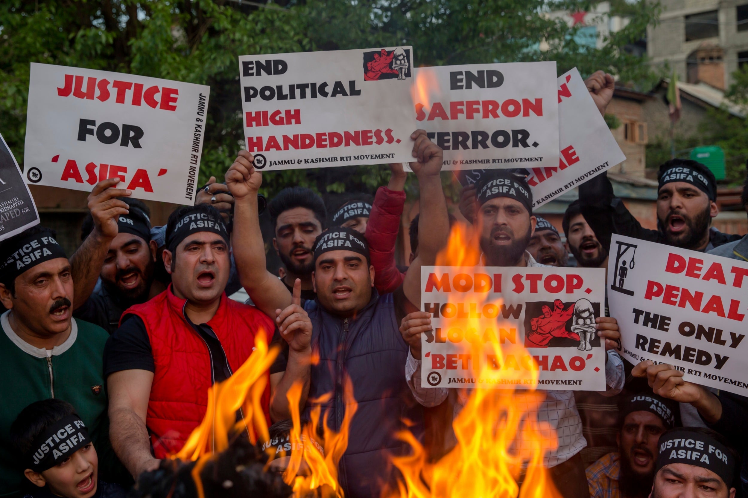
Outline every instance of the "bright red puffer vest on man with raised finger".
<path fill-rule="evenodd" d="M 182 449 L 192 430 L 202 422 L 208 405 L 212 383 L 210 354 L 202 337 L 187 322 L 185 304 L 186 299 L 174 296 L 170 285 L 150 301 L 122 314 L 141 317 L 153 351 L 156 371 L 146 426 L 156 458 Z M 252 354 L 257 334 L 265 334 L 269 341 L 275 330 L 273 321 L 262 311 L 228 299 L 225 293 L 208 325 L 221 341 L 232 372 Z M 262 403 L 267 420 L 269 402 L 270 387 L 266 387 Z"/>

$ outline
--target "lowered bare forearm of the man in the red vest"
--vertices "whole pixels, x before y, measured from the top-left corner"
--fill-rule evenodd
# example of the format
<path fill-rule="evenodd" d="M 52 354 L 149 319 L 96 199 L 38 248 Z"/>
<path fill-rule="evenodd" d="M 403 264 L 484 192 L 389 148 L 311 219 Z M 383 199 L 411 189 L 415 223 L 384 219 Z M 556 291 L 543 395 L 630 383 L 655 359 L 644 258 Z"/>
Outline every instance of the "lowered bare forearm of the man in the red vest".
<path fill-rule="evenodd" d="M 159 467 L 145 425 L 151 385 L 153 372 L 148 370 L 121 370 L 106 379 L 111 446 L 136 481 L 141 473 Z"/>

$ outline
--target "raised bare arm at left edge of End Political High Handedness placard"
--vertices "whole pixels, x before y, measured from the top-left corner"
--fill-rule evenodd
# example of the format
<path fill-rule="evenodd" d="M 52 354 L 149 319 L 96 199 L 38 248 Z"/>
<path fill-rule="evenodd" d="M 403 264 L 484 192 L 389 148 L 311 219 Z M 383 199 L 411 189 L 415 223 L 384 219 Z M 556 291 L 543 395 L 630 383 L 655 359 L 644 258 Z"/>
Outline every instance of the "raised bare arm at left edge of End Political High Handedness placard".
<path fill-rule="evenodd" d="M 291 305 L 291 293 L 266 269 L 265 243 L 257 209 L 257 191 L 263 184 L 263 175 L 253 164 L 254 157 L 249 152 L 239 151 L 226 172 L 226 185 L 234 198 L 231 249 L 242 287 L 257 308 L 273 317 L 275 310 Z"/>

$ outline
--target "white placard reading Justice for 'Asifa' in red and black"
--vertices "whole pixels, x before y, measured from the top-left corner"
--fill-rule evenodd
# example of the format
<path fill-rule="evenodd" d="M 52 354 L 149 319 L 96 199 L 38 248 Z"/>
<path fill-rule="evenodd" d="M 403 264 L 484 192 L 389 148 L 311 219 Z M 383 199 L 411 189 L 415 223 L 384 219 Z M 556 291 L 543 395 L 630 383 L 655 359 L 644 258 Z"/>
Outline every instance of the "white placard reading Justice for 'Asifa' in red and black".
<path fill-rule="evenodd" d="M 194 204 L 210 87 L 31 63 L 24 156 L 31 184 L 90 191 L 107 178 Z"/>

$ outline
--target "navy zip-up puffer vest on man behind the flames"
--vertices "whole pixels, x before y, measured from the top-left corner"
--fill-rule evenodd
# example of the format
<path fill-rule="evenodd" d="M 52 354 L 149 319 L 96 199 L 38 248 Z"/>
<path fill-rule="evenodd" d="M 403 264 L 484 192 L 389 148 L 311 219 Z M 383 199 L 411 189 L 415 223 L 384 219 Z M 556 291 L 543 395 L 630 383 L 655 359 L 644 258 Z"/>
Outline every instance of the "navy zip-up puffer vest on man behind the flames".
<path fill-rule="evenodd" d="M 319 363 L 311 367 L 308 399 L 327 393 L 322 403 L 328 426 L 340 429 L 345 414 L 345 376 L 351 379 L 358 402 L 351 421 L 348 449 L 340 461 L 339 481 L 346 498 L 379 498 L 381 488 L 396 476 L 390 455 L 408 446 L 395 435 L 409 429 L 423 437 L 423 408 L 405 383 L 408 344 L 399 332 L 393 294 L 379 296 L 372 289 L 369 304 L 355 318 L 343 319 L 323 310 L 316 301 L 304 305 L 313 326 L 312 349 Z M 309 402 L 304 410 L 308 420 Z"/>

